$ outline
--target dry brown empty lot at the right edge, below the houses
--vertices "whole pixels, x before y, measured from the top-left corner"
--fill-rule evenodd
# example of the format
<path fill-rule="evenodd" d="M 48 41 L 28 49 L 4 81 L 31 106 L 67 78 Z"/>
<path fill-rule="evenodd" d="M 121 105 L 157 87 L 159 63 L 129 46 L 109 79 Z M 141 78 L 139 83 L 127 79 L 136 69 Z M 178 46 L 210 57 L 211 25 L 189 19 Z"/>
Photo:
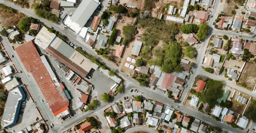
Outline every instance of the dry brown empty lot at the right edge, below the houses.
<path fill-rule="evenodd" d="M 256 80 L 256 67 L 255 63 L 252 62 L 247 62 L 244 66 L 244 69 L 242 71 L 242 74 L 239 77 L 239 81 L 237 84 L 242 86 L 242 83 L 246 84 L 246 87 L 243 85 L 242 87 L 248 89 L 248 90 L 253 90 L 255 87 L 255 80 Z"/>

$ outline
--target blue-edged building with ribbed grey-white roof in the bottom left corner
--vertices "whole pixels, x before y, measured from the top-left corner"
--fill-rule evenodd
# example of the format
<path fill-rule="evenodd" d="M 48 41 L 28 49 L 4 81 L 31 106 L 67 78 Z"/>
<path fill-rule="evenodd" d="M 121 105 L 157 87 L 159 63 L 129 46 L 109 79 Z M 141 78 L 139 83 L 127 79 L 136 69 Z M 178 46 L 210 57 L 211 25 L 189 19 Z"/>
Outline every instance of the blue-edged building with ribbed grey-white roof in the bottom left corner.
<path fill-rule="evenodd" d="M 9 91 L 1 120 L 2 128 L 10 127 L 16 123 L 23 100 L 25 100 L 25 93 L 21 86 L 17 86 Z"/>

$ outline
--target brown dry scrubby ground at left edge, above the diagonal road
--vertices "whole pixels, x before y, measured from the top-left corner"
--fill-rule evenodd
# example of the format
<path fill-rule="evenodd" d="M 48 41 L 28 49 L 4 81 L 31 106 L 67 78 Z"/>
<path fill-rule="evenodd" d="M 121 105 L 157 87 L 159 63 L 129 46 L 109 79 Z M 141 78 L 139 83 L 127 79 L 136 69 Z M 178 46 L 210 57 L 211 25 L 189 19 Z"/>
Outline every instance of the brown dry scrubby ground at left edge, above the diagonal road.
<path fill-rule="evenodd" d="M 23 17 L 26 17 L 23 13 L 11 13 L 6 9 L 0 8 L 0 23 L 3 27 L 17 26 Z"/>

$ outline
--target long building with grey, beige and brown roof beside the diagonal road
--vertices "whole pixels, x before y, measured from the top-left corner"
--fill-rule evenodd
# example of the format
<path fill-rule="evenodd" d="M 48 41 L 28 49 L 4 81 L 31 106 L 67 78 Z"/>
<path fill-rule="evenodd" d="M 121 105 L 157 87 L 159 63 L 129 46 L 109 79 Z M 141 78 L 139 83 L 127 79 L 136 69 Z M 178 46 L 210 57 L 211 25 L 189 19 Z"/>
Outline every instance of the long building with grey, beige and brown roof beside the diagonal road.
<path fill-rule="evenodd" d="M 97 64 L 84 57 L 58 37 L 53 39 L 46 52 L 83 78 L 86 77 L 92 68 L 95 70 L 98 68 Z"/>

